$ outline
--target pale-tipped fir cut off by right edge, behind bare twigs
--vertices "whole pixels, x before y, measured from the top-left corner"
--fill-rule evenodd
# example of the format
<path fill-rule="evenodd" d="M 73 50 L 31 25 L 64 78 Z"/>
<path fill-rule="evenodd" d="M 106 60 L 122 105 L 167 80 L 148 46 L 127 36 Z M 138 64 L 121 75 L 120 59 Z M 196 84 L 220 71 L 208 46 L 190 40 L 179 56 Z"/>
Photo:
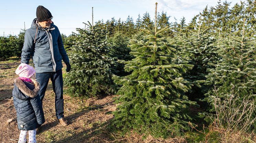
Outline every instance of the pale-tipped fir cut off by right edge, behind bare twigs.
<path fill-rule="evenodd" d="M 215 69 L 209 69 L 207 85 L 212 88 L 206 96 L 211 105 L 210 111 L 219 113 L 217 117 L 222 123 L 220 126 L 227 128 L 231 125 L 232 130 L 238 128 L 241 131 L 255 131 L 256 41 L 246 36 L 247 28 L 244 19 L 242 31 L 223 35 L 218 51 L 222 59 L 215 65 Z M 214 105 L 216 101 L 220 101 L 218 106 Z M 225 110 L 218 110 L 221 106 Z M 254 110 L 251 111 L 252 106 Z M 244 128 L 246 124 L 248 126 Z"/>

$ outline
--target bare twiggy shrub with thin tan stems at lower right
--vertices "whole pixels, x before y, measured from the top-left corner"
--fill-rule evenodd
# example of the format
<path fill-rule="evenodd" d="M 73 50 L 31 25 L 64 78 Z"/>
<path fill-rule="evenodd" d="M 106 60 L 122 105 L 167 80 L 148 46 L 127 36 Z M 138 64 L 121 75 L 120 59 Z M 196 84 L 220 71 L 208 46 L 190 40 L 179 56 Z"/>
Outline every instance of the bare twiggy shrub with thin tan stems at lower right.
<path fill-rule="evenodd" d="M 220 95 L 218 90 L 214 90 Z M 214 97 L 214 108 L 216 111 L 215 124 L 221 133 L 223 142 L 228 142 L 234 134 L 255 133 L 255 95 L 239 97 L 234 91 L 234 86 L 221 97 Z"/>

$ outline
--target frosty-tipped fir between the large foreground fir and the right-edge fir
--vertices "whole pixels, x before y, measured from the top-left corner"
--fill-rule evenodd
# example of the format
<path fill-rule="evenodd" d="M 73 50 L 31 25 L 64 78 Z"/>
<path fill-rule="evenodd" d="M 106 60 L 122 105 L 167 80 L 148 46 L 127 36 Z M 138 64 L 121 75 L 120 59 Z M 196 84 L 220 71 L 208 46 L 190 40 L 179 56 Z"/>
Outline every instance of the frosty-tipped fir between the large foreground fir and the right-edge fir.
<path fill-rule="evenodd" d="M 204 90 L 205 87 L 201 86 L 206 80 L 207 69 L 214 68 L 212 65 L 219 61 L 219 55 L 216 39 L 211 36 L 208 27 L 201 26 L 200 17 L 198 24 L 193 29 L 189 30 L 187 35 L 177 35 L 176 41 L 181 45 L 178 62 L 187 61 L 187 63 L 194 65 L 185 77 L 194 83 L 187 94 L 190 100 L 195 101 L 204 97 L 201 90 Z"/>

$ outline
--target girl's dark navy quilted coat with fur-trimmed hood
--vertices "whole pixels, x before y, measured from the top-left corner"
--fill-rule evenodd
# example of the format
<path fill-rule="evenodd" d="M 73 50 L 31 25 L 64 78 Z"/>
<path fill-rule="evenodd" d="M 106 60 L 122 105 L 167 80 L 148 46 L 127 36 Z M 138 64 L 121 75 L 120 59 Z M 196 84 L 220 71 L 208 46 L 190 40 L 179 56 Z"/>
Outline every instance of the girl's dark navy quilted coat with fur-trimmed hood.
<path fill-rule="evenodd" d="M 37 96 L 39 89 L 40 86 L 31 90 L 20 78 L 14 80 L 12 96 L 20 130 L 34 130 L 45 122 L 42 102 Z"/>

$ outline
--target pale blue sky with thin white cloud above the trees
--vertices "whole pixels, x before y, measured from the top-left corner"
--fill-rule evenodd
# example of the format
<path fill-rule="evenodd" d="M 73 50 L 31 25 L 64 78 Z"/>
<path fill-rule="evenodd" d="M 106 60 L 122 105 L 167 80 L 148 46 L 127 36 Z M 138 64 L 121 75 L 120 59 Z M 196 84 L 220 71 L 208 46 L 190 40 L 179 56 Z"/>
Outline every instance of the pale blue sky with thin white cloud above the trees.
<path fill-rule="evenodd" d="M 224 0 L 221 0 L 222 2 Z M 240 0 L 227 0 L 240 3 Z M 244 1 L 244 0 L 243 0 Z M 151 19 L 154 17 L 155 2 L 158 2 L 158 12 L 166 12 L 180 19 L 184 16 L 188 23 L 194 15 L 201 12 L 206 5 L 216 6 L 218 0 L 2 0 L 0 5 L 1 23 L 0 36 L 18 35 L 21 29 L 28 29 L 32 20 L 36 18 L 36 8 L 43 5 L 53 15 L 53 22 L 59 28 L 60 33 L 69 35 L 76 32 L 75 28 L 83 28 L 83 22 L 92 21 L 92 7 L 94 22 L 111 19 L 126 20 L 128 15 L 134 22 L 138 14 L 142 17 L 148 12 Z"/>

